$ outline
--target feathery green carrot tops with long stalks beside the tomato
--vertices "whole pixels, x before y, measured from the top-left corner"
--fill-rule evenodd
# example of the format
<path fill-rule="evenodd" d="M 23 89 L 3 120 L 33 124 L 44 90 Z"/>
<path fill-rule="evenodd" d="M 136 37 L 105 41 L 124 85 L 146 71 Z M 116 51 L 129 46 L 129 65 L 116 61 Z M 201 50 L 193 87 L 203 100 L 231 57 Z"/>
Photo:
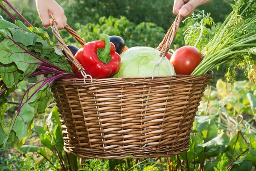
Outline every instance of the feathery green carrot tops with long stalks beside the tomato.
<path fill-rule="evenodd" d="M 249 80 L 256 81 L 256 0 L 235 0 L 232 7 L 233 12 L 201 50 L 204 60 L 192 75 L 230 64 L 227 81 L 235 81 L 236 67 L 245 69 Z"/>

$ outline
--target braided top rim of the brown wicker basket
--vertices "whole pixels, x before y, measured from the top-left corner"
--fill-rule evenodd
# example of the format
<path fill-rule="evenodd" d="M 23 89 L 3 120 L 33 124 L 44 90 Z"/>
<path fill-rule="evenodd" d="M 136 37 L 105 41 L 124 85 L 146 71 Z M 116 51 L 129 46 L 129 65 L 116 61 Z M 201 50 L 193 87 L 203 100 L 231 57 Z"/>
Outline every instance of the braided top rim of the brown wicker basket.
<path fill-rule="evenodd" d="M 153 80 L 177 80 L 177 79 L 184 79 L 184 78 L 192 78 L 192 79 L 198 79 L 198 78 L 212 78 L 214 75 L 214 72 L 212 70 L 208 71 L 206 74 L 202 74 L 202 75 L 166 75 L 166 76 L 154 76 Z M 123 78 L 93 78 L 93 83 L 95 82 L 100 82 L 100 81 L 148 81 L 151 80 L 152 81 L 152 76 L 148 76 L 148 77 L 123 77 Z M 87 83 L 83 83 L 83 84 L 91 84 L 91 80 L 90 78 L 86 78 L 85 81 Z M 55 83 L 60 83 L 60 82 L 76 82 L 76 83 L 81 83 L 84 82 L 83 78 L 59 78 L 56 81 L 54 81 Z"/>

